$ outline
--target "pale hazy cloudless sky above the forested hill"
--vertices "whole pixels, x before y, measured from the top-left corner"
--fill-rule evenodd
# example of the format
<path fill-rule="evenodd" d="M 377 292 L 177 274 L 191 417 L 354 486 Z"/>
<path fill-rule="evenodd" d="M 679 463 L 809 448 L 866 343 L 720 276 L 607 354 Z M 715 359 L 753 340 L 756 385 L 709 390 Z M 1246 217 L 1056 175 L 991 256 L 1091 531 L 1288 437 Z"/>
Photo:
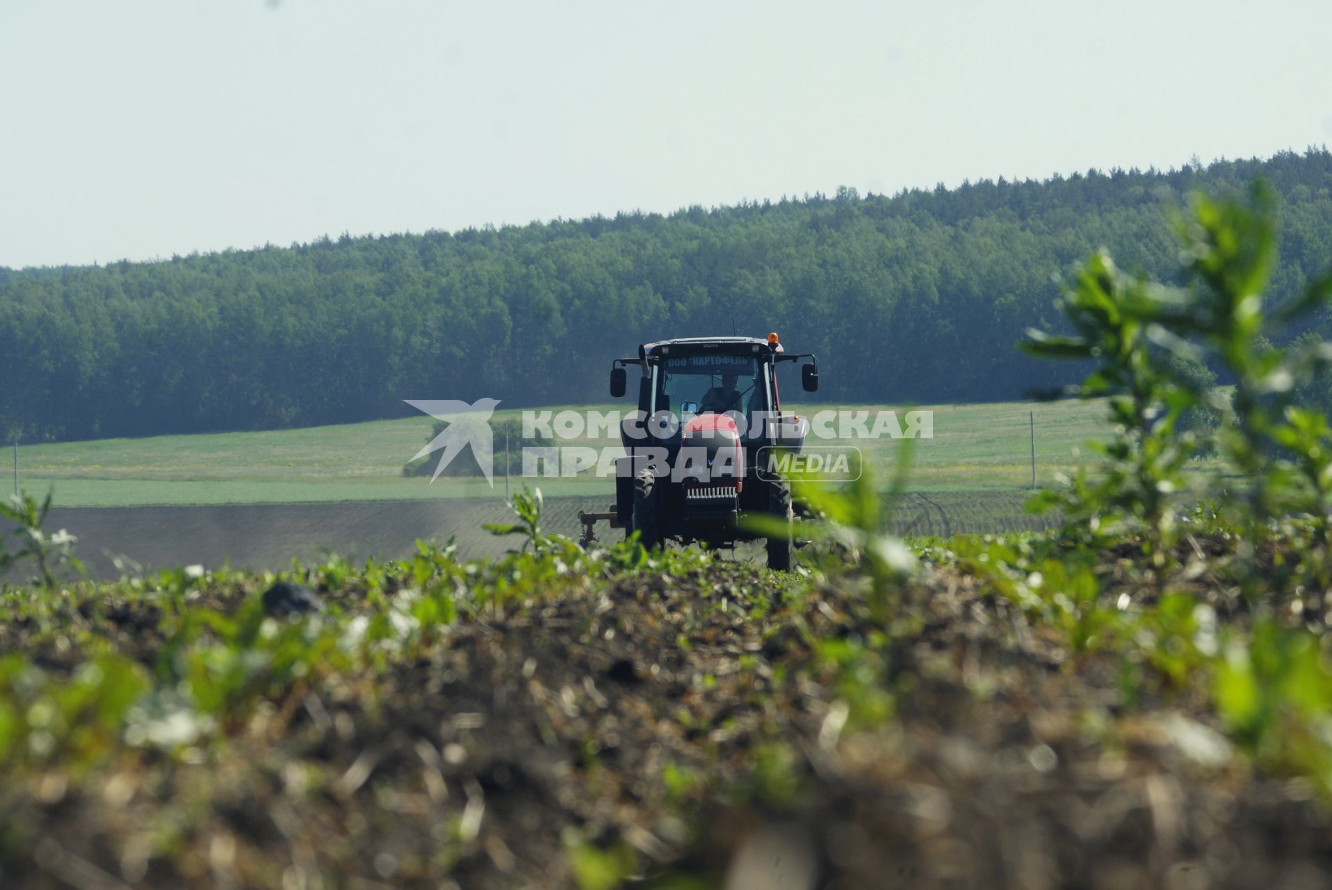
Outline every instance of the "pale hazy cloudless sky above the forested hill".
<path fill-rule="evenodd" d="M 1328 0 L 0 0 L 0 265 L 1303 151 L 1329 36 Z"/>

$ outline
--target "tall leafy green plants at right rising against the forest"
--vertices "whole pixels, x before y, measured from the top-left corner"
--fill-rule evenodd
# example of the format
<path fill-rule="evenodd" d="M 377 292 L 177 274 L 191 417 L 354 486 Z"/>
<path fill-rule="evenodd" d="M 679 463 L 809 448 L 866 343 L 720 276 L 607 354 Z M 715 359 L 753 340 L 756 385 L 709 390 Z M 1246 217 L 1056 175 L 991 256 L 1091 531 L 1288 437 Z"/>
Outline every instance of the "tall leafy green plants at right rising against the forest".
<path fill-rule="evenodd" d="M 1228 524 L 1243 529 L 1245 589 L 1260 581 L 1257 545 L 1273 520 L 1309 517 L 1317 534 L 1297 562 L 1303 581 L 1332 582 L 1332 433 L 1320 405 L 1301 393 L 1325 380 L 1332 344 L 1304 337 L 1288 349 L 1271 346 L 1279 330 L 1332 297 L 1332 274 L 1267 312 L 1263 290 L 1276 258 L 1276 216 L 1271 189 L 1255 184 L 1248 201 L 1193 196 L 1176 217 L 1189 286 L 1164 288 L 1130 278 L 1104 253 L 1079 273 L 1062 308 L 1071 336 L 1028 332 L 1023 348 L 1040 357 L 1094 360 L 1075 389 L 1083 398 L 1108 397 L 1115 433 L 1091 444 L 1103 460 L 1080 472 L 1067 489 L 1034 498 L 1036 509 L 1059 506 L 1067 530 L 1104 541 L 1143 537 L 1155 565 L 1167 561 L 1176 533 L 1173 504 L 1184 489 L 1184 468 L 1199 449 L 1185 417 L 1212 414 L 1215 442 L 1239 484 L 1220 470 L 1197 477 L 1215 496 Z M 1212 362 L 1233 381 L 1231 404 L 1193 369 Z M 1207 422 L 1189 424 L 1207 433 Z"/>

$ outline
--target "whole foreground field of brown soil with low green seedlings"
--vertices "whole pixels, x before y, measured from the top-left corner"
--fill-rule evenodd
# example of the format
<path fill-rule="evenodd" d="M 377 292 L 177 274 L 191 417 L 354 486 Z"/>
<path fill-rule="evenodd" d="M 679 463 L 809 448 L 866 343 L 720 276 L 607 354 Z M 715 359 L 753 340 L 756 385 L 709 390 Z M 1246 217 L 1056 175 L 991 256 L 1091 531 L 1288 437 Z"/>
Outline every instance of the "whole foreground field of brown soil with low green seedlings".
<path fill-rule="evenodd" d="M 1245 742 L 1127 553 L 1096 576 L 1119 649 L 996 590 L 1008 565 L 927 565 L 883 620 L 855 574 L 685 554 L 316 570 L 334 608 L 280 621 L 256 577 L 33 590 L 0 616 L 0 886 L 1325 889 L 1325 773 L 1292 770 L 1327 761 L 1276 755 L 1325 749 Z M 1244 634 L 1193 566 L 1169 596 Z M 1296 621 L 1317 658 L 1324 613 Z M 1263 687 L 1264 734 L 1311 685 Z"/>

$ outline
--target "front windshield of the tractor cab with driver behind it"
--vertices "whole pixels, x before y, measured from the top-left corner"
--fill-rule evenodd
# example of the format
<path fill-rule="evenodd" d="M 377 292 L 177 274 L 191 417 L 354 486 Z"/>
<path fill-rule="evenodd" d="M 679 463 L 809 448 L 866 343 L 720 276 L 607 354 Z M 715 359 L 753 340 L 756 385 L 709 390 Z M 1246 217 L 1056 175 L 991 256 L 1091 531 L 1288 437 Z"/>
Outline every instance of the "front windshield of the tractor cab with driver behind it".
<path fill-rule="evenodd" d="M 753 438 L 762 433 L 769 389 L 769 365 L 751 356 L 666 358 L 657 374 L 654 410 L 669 410 L 681 422 L 695 414 L 731 414 L 745 438 Z"/>

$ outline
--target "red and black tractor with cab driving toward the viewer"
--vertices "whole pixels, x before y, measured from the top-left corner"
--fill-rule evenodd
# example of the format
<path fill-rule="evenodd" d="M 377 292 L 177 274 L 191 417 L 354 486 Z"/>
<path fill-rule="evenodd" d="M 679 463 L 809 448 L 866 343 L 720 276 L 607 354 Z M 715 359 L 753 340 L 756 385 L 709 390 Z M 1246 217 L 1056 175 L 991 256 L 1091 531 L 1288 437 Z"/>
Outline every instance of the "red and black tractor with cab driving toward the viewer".
<path fill-rule="evenodd" d="M 791 568 L 790 484 L 771 472 L 782 450 L 799 452 L 809 426 L 782 413 L 777 365 L 809 358 L 801 382 L 819 388 L 813 354 L 789 354 L 775 333 L 754 337 L 689 337 L 643 344 L 617 358 L 610 394 L 622 397 L 630 365 L 638 366 L 638 410 L 621 426 L 626 456 L 615 468 L 614 525 L 638 533 L 643 546 L 667 540 L 731 546 L 767 540 L 767 564 Z M 785 520 L 785 534 L 745 528 L 746 513 Z"/>

